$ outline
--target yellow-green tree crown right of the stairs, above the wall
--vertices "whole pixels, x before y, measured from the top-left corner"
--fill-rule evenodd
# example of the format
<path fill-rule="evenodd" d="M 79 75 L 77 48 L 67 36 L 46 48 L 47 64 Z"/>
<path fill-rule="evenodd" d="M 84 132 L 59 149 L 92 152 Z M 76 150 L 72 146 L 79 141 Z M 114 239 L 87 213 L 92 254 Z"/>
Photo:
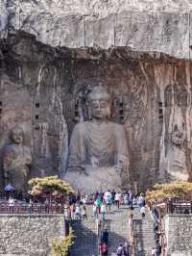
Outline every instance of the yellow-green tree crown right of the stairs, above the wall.
<path fill-rule="evenodd" d="M 192 196 L 192 183 L 177 181 L 170 184 L 156 184 L 152 191 L 146 192 L 148 201 L 163 201 L 168 198 L 183 198 Z"/>

